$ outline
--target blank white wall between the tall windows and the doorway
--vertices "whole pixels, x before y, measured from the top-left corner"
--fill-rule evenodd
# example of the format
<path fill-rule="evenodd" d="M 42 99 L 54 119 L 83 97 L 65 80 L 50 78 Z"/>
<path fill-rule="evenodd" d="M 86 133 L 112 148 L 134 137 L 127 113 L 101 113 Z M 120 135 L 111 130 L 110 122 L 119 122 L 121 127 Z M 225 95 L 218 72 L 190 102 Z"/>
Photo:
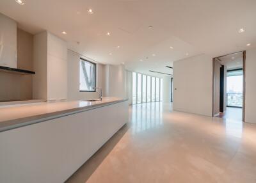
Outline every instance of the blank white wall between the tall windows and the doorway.
<path fill-rule="evenodd" d="M 212 58 L 202 54 L 173 63 L 173 109 L 212 115 Z M 177 90 L 175 90 L 177 88 Z"/>

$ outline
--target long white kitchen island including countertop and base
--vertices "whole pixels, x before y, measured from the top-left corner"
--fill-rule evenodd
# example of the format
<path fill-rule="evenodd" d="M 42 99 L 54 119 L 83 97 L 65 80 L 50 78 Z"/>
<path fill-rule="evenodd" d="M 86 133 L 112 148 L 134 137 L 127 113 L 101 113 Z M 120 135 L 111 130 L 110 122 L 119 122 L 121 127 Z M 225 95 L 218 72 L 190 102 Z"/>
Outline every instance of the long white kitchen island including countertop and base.
<path fill-rule="evenodd" d="M 128 101 L 0 108 L 0 182 L 64 182 L 128 122 Z"/>

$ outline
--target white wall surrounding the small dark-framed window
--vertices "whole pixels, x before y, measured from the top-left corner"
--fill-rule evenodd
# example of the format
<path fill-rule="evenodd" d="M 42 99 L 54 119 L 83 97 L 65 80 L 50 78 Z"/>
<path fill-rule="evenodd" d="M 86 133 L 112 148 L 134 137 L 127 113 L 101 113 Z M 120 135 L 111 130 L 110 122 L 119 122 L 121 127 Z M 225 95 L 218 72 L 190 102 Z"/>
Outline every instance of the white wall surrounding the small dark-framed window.
<path fill-rule="evenodd" d="M 97 92 L 79 92 L 79 61 L 83 56 L 76 52 L 68 51 L 68 100 L 96 99 Z M 84 58 L 86 59 L 86 58 Z M 97 63 L 97 87 L 104 92 L 104 65 Z"/>

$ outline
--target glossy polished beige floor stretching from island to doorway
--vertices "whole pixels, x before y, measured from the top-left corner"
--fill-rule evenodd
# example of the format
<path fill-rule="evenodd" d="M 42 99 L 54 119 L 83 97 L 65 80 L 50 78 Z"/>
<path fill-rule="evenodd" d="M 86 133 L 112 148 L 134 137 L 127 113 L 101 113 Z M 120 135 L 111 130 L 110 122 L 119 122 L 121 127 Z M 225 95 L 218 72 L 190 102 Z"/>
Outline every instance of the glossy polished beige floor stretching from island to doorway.
<path fill-rule="evenodd" d="M 256 125 L 134 105 L 67 182 L 256 182 Z"/>

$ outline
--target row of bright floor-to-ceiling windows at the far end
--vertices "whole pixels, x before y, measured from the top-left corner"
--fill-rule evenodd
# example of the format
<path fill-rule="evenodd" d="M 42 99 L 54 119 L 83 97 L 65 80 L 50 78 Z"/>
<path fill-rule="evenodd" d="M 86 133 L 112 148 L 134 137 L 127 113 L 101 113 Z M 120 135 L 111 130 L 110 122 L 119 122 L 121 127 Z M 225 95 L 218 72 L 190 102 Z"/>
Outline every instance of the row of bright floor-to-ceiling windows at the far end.
<path fill-rule="evenodd" d="M 132 104 L 163 100 L 163 79 L 132 72 Z"/>

